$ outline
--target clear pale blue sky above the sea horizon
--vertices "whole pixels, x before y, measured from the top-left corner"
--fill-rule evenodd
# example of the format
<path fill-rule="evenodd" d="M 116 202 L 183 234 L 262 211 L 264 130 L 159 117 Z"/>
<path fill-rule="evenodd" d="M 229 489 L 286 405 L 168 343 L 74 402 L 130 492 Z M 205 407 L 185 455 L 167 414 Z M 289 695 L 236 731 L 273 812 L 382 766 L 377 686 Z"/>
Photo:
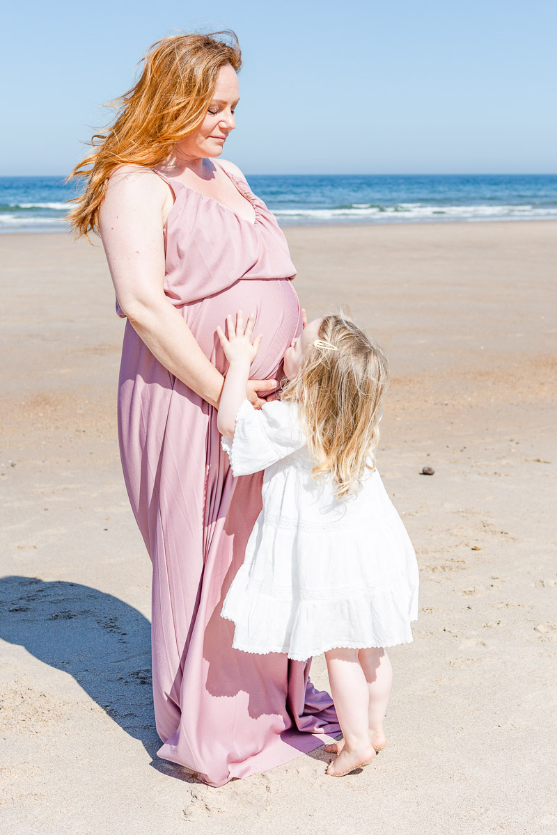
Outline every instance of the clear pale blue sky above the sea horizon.
<path fill-rule="evenodd" d="M 135 64 L 233 28 L 246 174 L 554 173 L 554 0 L 54 0 L 3 12 L 0 175 L 67 173 Z"/>

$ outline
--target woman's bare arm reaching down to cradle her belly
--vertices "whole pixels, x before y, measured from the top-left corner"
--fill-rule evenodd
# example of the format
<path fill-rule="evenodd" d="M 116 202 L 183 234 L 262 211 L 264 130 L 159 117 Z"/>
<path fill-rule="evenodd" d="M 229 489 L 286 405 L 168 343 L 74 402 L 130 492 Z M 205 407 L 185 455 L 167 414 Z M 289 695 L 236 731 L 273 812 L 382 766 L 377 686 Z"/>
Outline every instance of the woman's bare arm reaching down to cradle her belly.
<path fill-rule="evenodd" d="M 160 177 L 148 169 L 115 171 L 100 210 L 104 251 L 119 306 L 149 351 L 186 386 L 218 406 L 224 377 L 164 292 L 162 223 L 169 195 Z M 271 389 L 269 383 L 258 390 Z"/>

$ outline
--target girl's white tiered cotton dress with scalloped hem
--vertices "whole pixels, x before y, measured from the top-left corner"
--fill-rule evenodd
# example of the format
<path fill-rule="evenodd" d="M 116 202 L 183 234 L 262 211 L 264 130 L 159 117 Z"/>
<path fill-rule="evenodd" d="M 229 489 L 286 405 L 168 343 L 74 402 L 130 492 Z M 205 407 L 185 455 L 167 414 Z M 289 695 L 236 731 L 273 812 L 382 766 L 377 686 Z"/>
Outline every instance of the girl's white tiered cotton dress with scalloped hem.
<path fill-rule="evenodd" d="M 306 660 L 337 646 L 411 641 L 418 565 L 377 469 L 338 502 L 330 479 L 311 478 L 292 402 L 256 411 L 244 401 L 222 446 L 235 476 L 265 469 L 263 509 L 221 611 L 235 623 L 233 647 Z"/>

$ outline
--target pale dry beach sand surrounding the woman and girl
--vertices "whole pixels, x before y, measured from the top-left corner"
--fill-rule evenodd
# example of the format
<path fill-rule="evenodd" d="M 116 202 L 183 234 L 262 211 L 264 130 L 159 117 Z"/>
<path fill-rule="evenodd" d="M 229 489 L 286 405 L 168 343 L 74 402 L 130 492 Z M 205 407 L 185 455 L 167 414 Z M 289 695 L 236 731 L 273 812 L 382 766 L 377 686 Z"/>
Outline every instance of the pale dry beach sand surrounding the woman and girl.
<path fill-rule="evenodd" d="M 391 651 L 372 766 L 334 780 L 318 749 L 219 789 L 155 754 L 150 564 L 120 473 L 103 252 L 0 237 L 3 832 L 557 831 L 555 231 L 286 230 L 309 314 L 349 302 L 391 359 L 378 461 L 421 614 Z M 327 686 L 322 658 L 312 669 Z"/>

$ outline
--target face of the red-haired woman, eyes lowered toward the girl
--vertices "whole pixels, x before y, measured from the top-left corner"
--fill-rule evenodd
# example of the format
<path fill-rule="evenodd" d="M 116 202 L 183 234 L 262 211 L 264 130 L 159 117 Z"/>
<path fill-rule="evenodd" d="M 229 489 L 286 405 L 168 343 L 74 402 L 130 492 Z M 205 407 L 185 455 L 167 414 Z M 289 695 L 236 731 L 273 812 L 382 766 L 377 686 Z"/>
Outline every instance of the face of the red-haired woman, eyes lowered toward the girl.
<path fill-rule="evenodd" d="M 238 76 L 235 68 L 227 63 L 219 70 L 215 94 L 200 128 L 178 145 L 180 156 L 186 159 L 220 156 L 226 137 L 235 129 L 234 111 L 238 101 Z"/>

